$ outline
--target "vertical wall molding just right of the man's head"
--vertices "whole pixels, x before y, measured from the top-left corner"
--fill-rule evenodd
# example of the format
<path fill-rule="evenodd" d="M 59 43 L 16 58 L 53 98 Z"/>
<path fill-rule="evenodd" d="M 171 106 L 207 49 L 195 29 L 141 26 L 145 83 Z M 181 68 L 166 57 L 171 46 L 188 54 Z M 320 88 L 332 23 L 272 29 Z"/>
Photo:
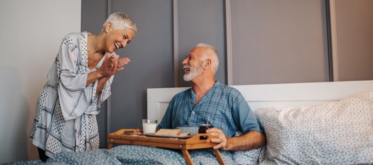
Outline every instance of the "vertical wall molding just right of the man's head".
<path fill-rule="evenodd" d="M 224 0 L 225 6 L 225 53 L 227 85 L 233 85 L 232 69 L 232 30 L 231 30 L 231 0 Z"/>

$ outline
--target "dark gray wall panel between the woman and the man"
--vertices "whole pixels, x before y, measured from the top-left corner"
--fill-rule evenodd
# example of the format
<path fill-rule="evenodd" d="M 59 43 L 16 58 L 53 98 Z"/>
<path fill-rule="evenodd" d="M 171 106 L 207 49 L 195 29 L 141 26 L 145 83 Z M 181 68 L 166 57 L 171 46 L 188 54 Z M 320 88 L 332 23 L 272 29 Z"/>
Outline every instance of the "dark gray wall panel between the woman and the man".
<path fill-rule="evenodd" d="M 117 52 L 131 62 L 117 73 L 112 84 L 111 132 L 141 128 L 146 118 L 146 89 L 173 87 L 172 1 L 113 0 L 112 12 L 131 16 L 138 33 Z"/>

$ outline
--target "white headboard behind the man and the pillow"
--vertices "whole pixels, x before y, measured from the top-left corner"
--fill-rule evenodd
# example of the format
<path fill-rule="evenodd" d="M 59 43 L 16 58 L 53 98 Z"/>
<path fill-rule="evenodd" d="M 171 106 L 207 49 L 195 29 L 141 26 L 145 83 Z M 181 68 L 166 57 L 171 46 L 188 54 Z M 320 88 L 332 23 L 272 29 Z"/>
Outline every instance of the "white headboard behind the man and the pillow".
<path fill-rule="evenodd" d="M 235 85 L 255 112 L 263 107 L 312 106 L 373 90 L 373 81 Z M 188 89 L 148 89 L 148 118 L 161 121 L 174 95 Z"/>

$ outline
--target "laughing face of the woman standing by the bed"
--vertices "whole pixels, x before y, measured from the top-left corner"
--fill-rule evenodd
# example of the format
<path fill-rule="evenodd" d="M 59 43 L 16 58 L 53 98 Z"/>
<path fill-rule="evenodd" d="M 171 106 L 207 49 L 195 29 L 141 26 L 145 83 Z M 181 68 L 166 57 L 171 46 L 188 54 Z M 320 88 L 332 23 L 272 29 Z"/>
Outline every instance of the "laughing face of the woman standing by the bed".
<path fill-rule="evenodd" d="M 124 48 L 129 44 L 136 32 L 132 29 L 117 29 L 108 31 L 105 37 L 106 51 L 109 53 Z"/>

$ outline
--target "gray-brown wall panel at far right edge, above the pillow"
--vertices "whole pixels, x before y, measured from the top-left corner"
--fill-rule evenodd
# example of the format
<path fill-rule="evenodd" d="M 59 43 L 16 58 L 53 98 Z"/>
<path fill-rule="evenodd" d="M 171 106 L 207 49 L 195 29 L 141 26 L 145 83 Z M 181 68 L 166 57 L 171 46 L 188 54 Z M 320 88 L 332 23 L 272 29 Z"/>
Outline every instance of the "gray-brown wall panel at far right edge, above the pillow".
<path fill-rule="evenodd" d="M 373 0 L 336 0 L 339 81 L 373 80 Z"/>

